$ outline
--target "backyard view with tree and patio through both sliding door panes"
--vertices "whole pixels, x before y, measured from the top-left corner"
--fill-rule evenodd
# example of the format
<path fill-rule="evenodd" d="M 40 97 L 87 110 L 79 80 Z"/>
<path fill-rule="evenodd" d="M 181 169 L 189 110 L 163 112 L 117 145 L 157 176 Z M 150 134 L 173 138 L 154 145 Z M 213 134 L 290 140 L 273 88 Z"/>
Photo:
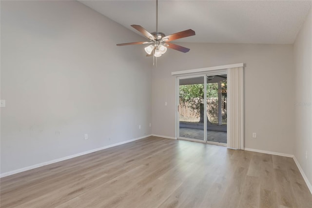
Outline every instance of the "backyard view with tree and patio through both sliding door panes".
<path fill-rule="evenodd" d="M 195 80 L 179 85 L 180 137 L 226 143 L 227 80 L 226 75 L 207 76 L 207 117 L 204 118 L 204 84 Z"/>

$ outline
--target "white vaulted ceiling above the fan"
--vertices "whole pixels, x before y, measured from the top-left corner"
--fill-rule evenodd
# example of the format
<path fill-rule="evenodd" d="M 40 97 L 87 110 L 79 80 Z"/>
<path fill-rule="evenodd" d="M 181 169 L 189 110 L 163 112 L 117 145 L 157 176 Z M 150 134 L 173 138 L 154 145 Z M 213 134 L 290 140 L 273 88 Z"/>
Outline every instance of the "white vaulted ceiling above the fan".
<path fill-rule="evenodd" d="M 104 16 L 137 32 L 138 24 L 156 29 L 156 0 L 80 0 Z M 159 31 L 170 35 L 193 29 L 178 42 L 294 42 L 311 8 L 311 0 L 159 0 Z M 137 32 L 139 34 L 139 32 Z M 133 40 L 144 41 L 142 40 Z"/>

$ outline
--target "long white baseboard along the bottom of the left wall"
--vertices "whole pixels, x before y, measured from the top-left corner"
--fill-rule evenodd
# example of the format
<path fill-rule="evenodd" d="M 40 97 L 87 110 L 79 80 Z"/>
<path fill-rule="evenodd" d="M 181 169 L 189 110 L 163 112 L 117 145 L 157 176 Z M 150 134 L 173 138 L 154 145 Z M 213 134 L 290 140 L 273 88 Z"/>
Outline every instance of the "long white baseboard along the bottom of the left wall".
<path fill-rule="evenodd" d="M 90 149 L 90 150 L 87 150 L 87 151 L 84 151 L 84 152 L 80 152 L 80 153 L 77 153 L 77 154 L 74 154 L 74 155 L 69 155 L 69 156 L 66 156 L 66 157 L 59 158 L 59 159 L 50 160 L 50 161 L 39 163 L 39 164 L 36 164 L 36 165 L 33 165 L 33 166 L 27 166 L 27 167 L 23 167 L 23 168 L 20 168 L 20 169 L 12 170 L 12 171 L 0 174 L 0 178 L 2 178 L 4 176 L 9 176 L 9 175 L 13 175 L 13 174 L 16 174 L 16 173 L 20 173 L 20 172 L 23 172 L 23 171 L 26 171 L 26 170 L 31 170 L 31 169 L 34 169 L 34 168 L 37 168 L 37 167 L 46 166 L 46 165 L 50 165 L 50 164 L 53 164 L 53 163 L 58 163 L 58 162 L 63 161 L 63 160 L 68 160 L 68 159 L 71 159 L 71 158 L 74 158 L 74 157 L 78 157 L 78 156 L 81 156 L 81 155 L 89 154 L 89 153 L 96 152 L 96 151 L 99 151 L 99 150 L 102 150 L 102 149 L 107 149 L 107 148 L 110 148 L 110 147 L 113 147 L 113 146 L 123 145 L 123 144 L 129 143 L 129 142 L 134 142 L 134 141 L 137 141 L 137 140 L 140 140 L 140 139 L 144 139 L 144 138 L 149 137 L 149 136 L 152 136 L 152 135 L 151 134 L 150 135 L 145 135 L 145 136 L 138 137 L 138 138 L 135 138 L 135 139 L 119 142 L 119 143 L 116 143 L 116 144 L 113 144 L 113 145 L 102 146 L 102 147 L 99 147 L 99 148 L 96 148 L 96 149 Z"/>

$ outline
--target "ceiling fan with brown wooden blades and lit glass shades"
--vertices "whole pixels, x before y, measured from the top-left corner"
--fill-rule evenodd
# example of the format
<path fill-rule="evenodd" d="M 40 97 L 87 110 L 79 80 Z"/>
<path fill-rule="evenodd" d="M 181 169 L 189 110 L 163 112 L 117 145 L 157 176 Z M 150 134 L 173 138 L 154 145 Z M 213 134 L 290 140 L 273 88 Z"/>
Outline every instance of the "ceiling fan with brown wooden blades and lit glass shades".
<path fill-rule="evenodd" d="M 188 29 L 184 30 L 178 33 L 174 33 L 171 35 L 166 36 L 162 32 L 158 32 L 158 0 L 156 0 L 156 32 L 148 32 L 145 30 L 142 26 L 133 24 L 131 25 L 133 28 L 135 28 L 137 31 L 142 33 L 147 39 L 147 42 L 128 42 L 128 43 L 120 43 L 117 44 L 117 46 L 123 46 L 123 45 L 136 45 L 136 44 L 150 44 L 149 46 L 145 47 L 145 51 L 147 53 L 146 56 L 155 56 L 160 57 L 162 54 L 166 53 L 167 47 L 181 51 L 183 53 L 189 52 L 190 49 L 176 45 L 174 43 L 171 43 L 171 41 L 174 41 L 176 39 L 180 38 L 186 38 L 189 36 L 194 36 L 195 31 Z"/>

